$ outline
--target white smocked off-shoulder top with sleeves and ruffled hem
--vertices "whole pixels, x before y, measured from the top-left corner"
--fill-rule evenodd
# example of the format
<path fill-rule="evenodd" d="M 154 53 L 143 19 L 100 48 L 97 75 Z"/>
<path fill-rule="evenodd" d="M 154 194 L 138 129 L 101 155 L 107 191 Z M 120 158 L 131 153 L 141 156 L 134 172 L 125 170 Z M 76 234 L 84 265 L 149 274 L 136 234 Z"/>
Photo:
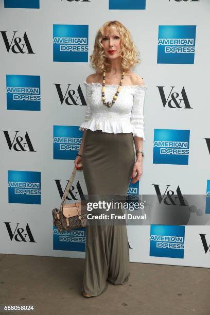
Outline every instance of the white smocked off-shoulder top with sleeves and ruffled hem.
<path fill-rule="evenodd" d="M 111 133 L 132 132 L 133 136 L 145 140 L 143 110 L 146 85 L 122 85 L 116 102 L 111 108 L 107 108 L 101 100 L 102 84 L 86 81 L 84 84 L 87 108 L 80 131 L 100 129 Z M 116 84 L 106 85 L 106 101 L 112 101 L 117 88 Z"/>

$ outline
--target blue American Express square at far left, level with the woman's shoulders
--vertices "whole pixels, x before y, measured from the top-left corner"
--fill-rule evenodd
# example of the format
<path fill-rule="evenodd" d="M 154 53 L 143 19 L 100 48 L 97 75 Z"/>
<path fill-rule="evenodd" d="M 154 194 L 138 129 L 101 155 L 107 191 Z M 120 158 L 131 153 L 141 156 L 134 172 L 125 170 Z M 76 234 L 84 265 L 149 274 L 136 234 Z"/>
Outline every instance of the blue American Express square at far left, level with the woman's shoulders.
<path fill-rule="evenodd" d="M 40 111 L 40 76 L 6 75 L 7 109 Z"/>

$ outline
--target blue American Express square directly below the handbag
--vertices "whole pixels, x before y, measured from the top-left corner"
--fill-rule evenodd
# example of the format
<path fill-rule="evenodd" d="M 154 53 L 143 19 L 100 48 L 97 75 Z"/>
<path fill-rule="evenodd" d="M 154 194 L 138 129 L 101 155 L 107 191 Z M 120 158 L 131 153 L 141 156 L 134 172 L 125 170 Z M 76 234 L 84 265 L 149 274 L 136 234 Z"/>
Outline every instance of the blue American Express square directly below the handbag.
<path fill-rule="evenodd" d="M 85 252 L 86 228 L 59 232 L 53 226 L 53 249 L 59 251 Z"/>

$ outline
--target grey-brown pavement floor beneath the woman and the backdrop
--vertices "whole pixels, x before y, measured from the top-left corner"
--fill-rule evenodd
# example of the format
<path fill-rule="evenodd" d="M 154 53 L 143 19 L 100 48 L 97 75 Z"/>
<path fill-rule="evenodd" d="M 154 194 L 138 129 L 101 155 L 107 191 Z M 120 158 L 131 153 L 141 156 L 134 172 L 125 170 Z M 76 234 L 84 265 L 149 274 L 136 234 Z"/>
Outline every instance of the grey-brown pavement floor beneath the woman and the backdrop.
<path fill-rule="evenodd" d="M 7 312 L 19 314 L 210 315 L 209 269 L 130 264 L 128 283 L 84 298 L 84 259 L 0 254 L 0 304 L 33 305 Z"/>

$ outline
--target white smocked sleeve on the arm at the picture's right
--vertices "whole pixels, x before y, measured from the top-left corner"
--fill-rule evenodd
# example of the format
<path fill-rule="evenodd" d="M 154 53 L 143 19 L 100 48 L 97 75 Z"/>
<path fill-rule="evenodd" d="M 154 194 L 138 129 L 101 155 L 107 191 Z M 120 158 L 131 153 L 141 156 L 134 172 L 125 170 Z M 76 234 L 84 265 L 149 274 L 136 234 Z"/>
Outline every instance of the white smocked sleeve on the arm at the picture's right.
<path fill-rule="evenodd" d="M 144 134 L 144 100 L 146 85 L 138 85 L 133 95 L 133 107 L 131 110 L 130 123 L 133 126 L 133 135 L 143 138 Z"/>

